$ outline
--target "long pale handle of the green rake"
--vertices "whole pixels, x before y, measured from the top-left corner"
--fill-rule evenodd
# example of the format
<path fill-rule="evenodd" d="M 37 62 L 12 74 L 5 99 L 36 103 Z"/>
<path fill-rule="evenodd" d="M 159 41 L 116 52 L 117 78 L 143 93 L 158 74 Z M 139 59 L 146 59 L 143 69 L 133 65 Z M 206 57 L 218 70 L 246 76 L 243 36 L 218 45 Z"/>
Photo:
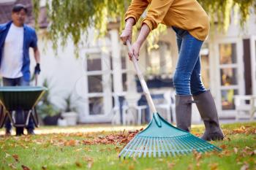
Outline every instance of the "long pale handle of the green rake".
<path fill-rule="evenodd" d="M 129 40 L 127 40 L 127 47 L 128 47 L 129 52 L 132 53 L 132 46 L 131 46 L 131 43 L 129 42 Z M 132 62 L 133 62 L 133 65 L 135 66 L 135 70 L 138 74 L 140 84 L 143 88 L 143 92 L 146 96 L 146 100 L 148 101 L 148 105 L 149 105 L 151 111 L 155 113 L 155 112 L 157 112 L 157 109 L 154 106 L 154 102 L 153 102 L 153 100 L 151 98 L 151 95 L 149 93 L 148 86 L 146 85 L 146 81 L 144 80 L 143 74 L 140 72 L 138 61 L 137 61 L 137 59 L 135 58 L 134 55 L 132 55 Z"/>

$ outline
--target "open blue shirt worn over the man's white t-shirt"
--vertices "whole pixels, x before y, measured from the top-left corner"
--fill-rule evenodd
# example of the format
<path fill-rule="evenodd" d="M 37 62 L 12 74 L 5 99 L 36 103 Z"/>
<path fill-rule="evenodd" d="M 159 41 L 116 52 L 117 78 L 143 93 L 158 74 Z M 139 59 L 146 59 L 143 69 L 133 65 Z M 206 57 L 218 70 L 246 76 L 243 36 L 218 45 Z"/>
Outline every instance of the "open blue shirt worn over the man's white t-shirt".
<path fill-rule="evenodd" d="M 7 37 L 8 31 L 12 21 L 0 25 L 0 66 L 1 58 L 4 50 L 4 41 Z M 23 39 L 23 66 L 21 72 L 23 73 L 23 79 L 27 82 L 30 80 L 30 58 L 29 58 L 29 47 L 37 47 L 37 34 L 34 28 L 24 24 L 24 39 Z"/>

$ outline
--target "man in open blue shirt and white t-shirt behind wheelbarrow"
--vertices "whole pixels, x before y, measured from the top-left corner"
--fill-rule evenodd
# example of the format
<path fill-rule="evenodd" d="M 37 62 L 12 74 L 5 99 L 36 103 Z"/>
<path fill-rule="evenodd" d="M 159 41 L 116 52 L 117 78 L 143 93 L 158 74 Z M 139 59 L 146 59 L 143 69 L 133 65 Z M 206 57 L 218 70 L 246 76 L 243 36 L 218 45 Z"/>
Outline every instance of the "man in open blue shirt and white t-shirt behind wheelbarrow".
<path fill-rule="evenodd" d="M 33 48 L 37 62 L 34 72 L 35 74 L 40 72 L 37 34 L 34 28 L 24 24 L 27 13 L 28 10 L 23 4 L 15 4 L 12 8 L 12 20 L 0 25 L 0 75 L 4 86 L 29 85 L 31 77 L 29 47 Z M 6 135 L 10 135 L 12 125 L 9 118 L 5 128 Z M 26 129 L 28 134 L 34 134 L 34 123 L 31 117 Z M 17 128 L 16 135 L 21 134 L 23 134 L 23 128 Z"/>

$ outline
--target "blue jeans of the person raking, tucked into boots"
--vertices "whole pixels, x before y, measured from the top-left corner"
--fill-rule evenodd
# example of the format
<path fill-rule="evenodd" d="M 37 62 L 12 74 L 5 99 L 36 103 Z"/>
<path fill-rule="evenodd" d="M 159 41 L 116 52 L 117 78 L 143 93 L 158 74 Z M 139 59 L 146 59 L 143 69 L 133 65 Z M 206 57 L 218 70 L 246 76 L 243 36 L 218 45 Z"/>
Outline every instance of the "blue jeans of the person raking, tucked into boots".
<path fill-rule="evenodd" d="M 206 91 L 200 73 L 200 49 L 203 41 L 190 35 L 188 31 L 173 27 L 178 45 L 178 63 L 173 76 L 173 86 L 177 95 L 197 95 Z"/>

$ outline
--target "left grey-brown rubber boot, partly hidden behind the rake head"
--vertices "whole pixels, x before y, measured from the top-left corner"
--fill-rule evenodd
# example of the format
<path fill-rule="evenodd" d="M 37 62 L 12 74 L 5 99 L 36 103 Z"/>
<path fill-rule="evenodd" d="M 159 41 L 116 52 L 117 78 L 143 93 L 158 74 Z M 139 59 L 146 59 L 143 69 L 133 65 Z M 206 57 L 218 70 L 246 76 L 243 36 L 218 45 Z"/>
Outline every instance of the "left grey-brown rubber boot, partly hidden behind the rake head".
<path fill-rule="evenodd" d="M 177 128 L 190 131 L 192 115 L 192 96 L 176 95 L 176 123 Z"/>

